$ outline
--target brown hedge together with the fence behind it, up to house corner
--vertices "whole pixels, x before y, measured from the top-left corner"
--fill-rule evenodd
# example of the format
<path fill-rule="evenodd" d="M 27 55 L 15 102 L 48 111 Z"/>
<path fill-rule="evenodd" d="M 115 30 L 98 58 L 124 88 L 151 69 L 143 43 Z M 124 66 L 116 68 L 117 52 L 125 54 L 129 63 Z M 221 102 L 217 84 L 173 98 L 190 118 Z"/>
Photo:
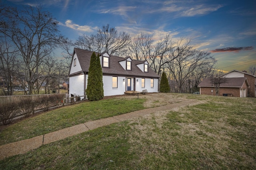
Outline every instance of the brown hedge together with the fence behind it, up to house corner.
<path fill-rule="evenodd" d="M 26 97 L 25 97 L 26 96 Z M 5 96 L 4 96 L 5 97 Z M 12 96 L 7 96 L 12 97 Z M 13 96 L 8 102 L 0 103 L 0 122 L 4 125 L 11 123 L 16 115 L 29 117 L 35 112 L 35 109 L 48 111 L 52 106 L 64 106 L 65 103 L 74 104 L 80 100 L 81 96 L 68 98 L 68 94 L 50 94 L 50 95 L 24 95 Z"/>

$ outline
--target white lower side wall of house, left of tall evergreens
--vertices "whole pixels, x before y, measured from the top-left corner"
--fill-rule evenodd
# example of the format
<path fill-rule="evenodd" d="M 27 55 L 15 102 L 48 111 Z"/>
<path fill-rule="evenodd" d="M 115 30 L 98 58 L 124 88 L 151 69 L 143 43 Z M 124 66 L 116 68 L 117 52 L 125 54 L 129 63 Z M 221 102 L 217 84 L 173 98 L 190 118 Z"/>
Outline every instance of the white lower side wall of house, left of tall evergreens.
<path fill-rule="evenodd" d="M 82 74 L 69 78 L 69 94 L 84 96 L 84 77 Z"/>

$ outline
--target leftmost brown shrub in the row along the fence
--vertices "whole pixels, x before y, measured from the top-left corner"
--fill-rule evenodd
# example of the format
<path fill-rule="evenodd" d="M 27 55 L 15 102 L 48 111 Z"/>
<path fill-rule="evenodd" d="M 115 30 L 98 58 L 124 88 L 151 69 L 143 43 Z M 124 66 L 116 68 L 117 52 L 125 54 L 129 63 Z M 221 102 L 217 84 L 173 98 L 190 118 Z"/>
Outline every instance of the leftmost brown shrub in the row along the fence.
<path fill-rule="evenodd" d="M 0 121 L 4 125 L 11 123 L 13 117 L 19 113 L 19 106 L 16 102 L 0 104 Z"/>

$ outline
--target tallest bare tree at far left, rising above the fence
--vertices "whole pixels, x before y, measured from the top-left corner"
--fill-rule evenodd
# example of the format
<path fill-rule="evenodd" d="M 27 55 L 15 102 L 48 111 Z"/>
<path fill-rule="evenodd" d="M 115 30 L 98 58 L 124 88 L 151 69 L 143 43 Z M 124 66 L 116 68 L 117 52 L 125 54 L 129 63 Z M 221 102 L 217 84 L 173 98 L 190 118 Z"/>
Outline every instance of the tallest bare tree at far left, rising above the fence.
<path fill-rule="evenodd" d="M 5 8 L 0 33 L 6 35 L 17 47 L 25 66 L 28 94 L 32 94 L 39 75 L 42 59 L 52 55 L 60 43 L 58 21 L 42 7 Z"/>

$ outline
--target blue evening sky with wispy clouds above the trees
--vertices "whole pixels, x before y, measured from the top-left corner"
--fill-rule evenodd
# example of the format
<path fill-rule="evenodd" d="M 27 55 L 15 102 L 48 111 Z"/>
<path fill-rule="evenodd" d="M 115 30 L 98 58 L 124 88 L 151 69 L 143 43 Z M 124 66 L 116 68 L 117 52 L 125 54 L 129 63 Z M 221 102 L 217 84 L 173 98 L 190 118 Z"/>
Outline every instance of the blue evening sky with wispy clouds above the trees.
<path fill-rule="evenodd" d="M 77 39 L 110 24 L 130 36 L 144 32 L 192 38 L 224 72 L 256 66 L 256 0 L 2 0 L 9 6 L 42 5 Z M 58 54 L 57 54 L 58 55 Z"/>

